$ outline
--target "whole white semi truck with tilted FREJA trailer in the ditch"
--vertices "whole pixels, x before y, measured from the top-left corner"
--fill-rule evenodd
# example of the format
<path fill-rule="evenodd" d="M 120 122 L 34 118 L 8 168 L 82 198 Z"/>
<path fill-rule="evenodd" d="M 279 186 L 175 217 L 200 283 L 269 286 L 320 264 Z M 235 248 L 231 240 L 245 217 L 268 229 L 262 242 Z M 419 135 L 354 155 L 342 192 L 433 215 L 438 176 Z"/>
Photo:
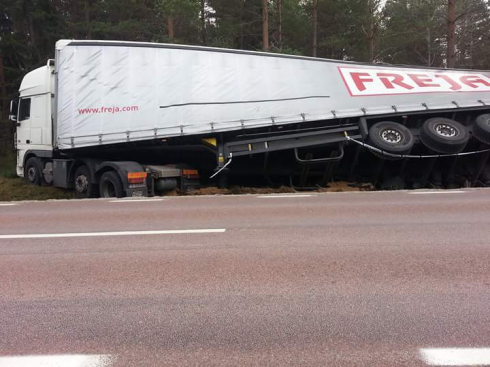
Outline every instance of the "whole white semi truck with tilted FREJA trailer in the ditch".
<path fill-rule="evenodd" d="M 10 114 L 17 174 L 79 198 L 490 184 L 488 71 L 60 40 Z"/>

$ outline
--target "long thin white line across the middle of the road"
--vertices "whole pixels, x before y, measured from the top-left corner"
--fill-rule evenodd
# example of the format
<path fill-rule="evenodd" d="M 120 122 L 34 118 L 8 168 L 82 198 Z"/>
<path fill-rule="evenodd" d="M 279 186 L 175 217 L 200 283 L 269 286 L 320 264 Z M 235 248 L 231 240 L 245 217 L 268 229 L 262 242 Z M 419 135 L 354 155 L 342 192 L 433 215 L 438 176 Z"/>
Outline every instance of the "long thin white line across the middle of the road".
<path fill-rule="evenodd" d="M 26 239 L 26 238 L 145 236 L 145 235 L 156 235 L 156 234 L 204 234 L 204 233 L 224 233 L 224 232 L 226 232 L 226 229 L 175 229 L 175 230 L 162 230 L 162 231 L 9 234 L 9 235 L 0 235 L 0 239 L 5 240 L 5 239 Z"/>

